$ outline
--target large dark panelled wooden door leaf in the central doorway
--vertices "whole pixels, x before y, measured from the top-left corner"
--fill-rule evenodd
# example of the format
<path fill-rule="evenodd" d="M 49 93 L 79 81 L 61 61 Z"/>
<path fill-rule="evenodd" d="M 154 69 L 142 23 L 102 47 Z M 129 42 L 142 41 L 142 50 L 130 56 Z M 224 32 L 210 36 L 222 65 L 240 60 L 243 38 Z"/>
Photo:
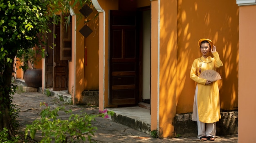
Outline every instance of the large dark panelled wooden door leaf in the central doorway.
<path fill-rule="evenodd" d="M 110 10 L 110 104 L 138 103 L 138 46 L 135 11 Z"/>

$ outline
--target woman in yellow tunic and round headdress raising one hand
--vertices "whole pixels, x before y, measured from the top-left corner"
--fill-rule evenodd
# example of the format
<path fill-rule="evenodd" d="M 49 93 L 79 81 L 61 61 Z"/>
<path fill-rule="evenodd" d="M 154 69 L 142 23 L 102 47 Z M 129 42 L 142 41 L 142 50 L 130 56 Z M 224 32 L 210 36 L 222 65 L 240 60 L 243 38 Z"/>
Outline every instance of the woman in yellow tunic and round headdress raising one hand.
<path fill-rule="evenodd" d="M 220 56 L 210 39 L 200 39 L 198 46 L 202 56 L 194 60 L 190 78 L 197 85 L 195 88 L 192 120 L 198 124 L 198 139 L 214 141 L 216 122 L 220 117 L 219 87 L 216 81 L 199 78 L 201 72 L 207 69 L 216 70 L 223 65 Z M 210 56 L 213 54 L 213 57 Z"/>

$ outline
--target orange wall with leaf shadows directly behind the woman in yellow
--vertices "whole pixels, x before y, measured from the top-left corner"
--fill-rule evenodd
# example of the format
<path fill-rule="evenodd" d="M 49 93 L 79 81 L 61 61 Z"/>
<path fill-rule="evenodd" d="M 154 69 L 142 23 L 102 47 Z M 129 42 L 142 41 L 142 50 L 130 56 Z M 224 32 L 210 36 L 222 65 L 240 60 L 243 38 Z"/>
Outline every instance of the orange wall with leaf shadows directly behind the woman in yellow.
<path fill-rule="evenodd" d="M 195 83 L 189 73 L 193 60 L 200 56 L 197 43 L 201 38 L 213 41 L 224 63 L 217 70 L 222 76 L 221 109 L 237 109 L 239 7 L 236 1 L 178 0 L 177 6 L 177 113 L 192 112 Z"/>

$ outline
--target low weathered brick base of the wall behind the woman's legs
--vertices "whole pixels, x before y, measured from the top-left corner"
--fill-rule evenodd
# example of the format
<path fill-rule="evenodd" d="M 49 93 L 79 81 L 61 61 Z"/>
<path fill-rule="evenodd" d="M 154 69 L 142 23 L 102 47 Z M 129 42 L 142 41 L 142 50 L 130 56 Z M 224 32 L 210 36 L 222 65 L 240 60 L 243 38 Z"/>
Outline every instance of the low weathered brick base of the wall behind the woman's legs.
<path fill-rule="evenodd" d="M 216 135 L 225 136 L 229 134 L 237 134 L 238 130 L 238 111 L 220 112 L 221 119 L 217 122 Z M 192 113 L 177 114 L 174 120 L 174 128 L 176 134 L 183 137 L 197 136 L 197 123 L 191 121 Z"/>

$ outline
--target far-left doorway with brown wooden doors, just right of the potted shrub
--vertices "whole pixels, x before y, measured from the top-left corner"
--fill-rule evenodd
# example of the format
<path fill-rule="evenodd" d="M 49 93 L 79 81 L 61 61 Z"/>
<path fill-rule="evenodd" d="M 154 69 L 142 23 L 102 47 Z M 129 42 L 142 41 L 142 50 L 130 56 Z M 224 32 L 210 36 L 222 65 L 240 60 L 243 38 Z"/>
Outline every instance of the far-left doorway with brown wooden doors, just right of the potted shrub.
<path fill-rule="evenodd" d="M 61 26 L 58 24 L 49 25 L 52 33 L 47 35 L 45 46 L 45 88 L 52 88 L 53 91 L 67 90 L 68 61 L 61 60 Z"/>

